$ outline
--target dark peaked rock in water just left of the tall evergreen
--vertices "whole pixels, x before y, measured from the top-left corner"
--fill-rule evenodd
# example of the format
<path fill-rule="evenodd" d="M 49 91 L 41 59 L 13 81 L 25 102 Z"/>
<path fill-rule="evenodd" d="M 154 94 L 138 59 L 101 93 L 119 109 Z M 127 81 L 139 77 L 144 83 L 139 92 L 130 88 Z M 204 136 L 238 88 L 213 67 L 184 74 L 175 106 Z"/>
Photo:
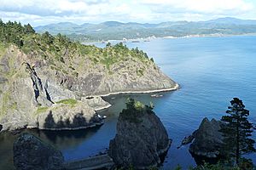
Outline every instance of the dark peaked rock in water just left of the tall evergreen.
<path fill-rule="evenodd" d="M 222 122 L 204 118 L 199 129 L 194 133 L 195 140 L 189 146 L 189 152 L 195 156 L 216 158 L 223 143 L 222 133 L 219 132 Z"/>

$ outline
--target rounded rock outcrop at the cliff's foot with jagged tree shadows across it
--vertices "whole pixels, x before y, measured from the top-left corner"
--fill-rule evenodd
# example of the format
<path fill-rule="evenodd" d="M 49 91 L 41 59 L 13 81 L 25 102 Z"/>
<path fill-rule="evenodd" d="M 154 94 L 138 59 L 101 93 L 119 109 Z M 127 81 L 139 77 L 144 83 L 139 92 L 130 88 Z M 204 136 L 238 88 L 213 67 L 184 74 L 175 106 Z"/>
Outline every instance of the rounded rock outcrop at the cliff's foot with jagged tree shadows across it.
<path fill-rule="evenodd" d="M 38 115 L 38 128 L 71 130 L 102 124 L 96 112 L 83 102 L 76 105 L 55 105 Z"/>

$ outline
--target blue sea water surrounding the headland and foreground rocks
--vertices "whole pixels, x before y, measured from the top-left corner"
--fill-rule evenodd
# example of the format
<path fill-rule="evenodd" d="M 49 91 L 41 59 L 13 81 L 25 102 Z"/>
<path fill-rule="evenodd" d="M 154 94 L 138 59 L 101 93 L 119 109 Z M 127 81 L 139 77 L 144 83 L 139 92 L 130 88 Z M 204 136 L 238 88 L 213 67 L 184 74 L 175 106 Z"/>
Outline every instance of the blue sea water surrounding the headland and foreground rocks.
<path fill-rule="evenodd" d="M 115 134 L 119 111 L 125 106 L 127 97 L 145 103 L 152 101 L 154 111 L 173 139 L 164 169 L 172 169 L 177 164 L 184 168 L 195 165 L 189 154 L 189 145 L 180 149 L 177 146 L 184 136 L 200 125 L 205 116 L 223 116 L 233 97 L 243 100 L 251 112 L 250 121 L 256 123 L 256 37 L 155 39 L 151 42 L 128 42 L 126 45 L 141 48 L 148 56 L 154 57 L 160 69 L 181 88 L 161 93 L 163 97 L 158 99 L 151 98 L 150 94 L 109 96 L 105 99 L 113 106 L 101 111 L 108 115 L 102 127 L 61 133 L 32 131 L 60 149 L 66 160 L 92 156 L 108 148 L 109 139 L 113 139 Z M 0 167 L 6 167 L 6 162 L 11 163 L 12 141 L 15 138 L 0 136 Z M 256 139 L 256 133 L 253 138 Z M 249 157 L 256 163 L 255 154 Z"/>

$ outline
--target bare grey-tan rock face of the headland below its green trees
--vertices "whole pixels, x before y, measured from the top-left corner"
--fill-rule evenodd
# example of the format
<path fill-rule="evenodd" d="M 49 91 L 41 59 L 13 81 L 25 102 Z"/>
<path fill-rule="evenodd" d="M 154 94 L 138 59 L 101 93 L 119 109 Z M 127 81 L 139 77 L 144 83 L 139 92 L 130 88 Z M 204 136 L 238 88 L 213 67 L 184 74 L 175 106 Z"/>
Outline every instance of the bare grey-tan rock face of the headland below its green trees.
<path fill-rule="evenodd" d="M 99 48 L 91 48 L 96 50 L 92 54 L 101 52 Z M 149 59 L 127 54 L 125 59 L 110 65 L 103 62 L 105 60 L 96 62 L 91 54 L 82 55 L 64 48 L 61 61 L 49 51 L 41 53 L 35 49 L 25 54 L 13 45 L 0 53 L 0 124 L 3 130 L 49 129 L 44 125 L 58 123 L 52 129 L 88 127 L 101 123 L 96 119 L 95 110 L 109 104 L 100 97 L 86 96 L 177 88 L 177 83 Z M 51 123 L 47 122 L 49 116 L 54 120 Z M 85 121 L 75 122 L 77 116 Z"/>

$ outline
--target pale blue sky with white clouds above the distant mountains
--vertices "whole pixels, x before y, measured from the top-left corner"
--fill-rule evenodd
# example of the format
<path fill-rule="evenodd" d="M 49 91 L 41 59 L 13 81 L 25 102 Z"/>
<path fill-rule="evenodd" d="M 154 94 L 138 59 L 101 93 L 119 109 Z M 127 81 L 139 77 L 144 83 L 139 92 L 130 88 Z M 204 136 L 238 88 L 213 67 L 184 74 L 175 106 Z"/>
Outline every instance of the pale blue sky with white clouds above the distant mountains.
<path fill-rule="evenodd" d="M 256 20 L 256 0 L 0 0 L 0 18 L 32 26 L 56 22 L 159 23 L 236 17 Z"/>

